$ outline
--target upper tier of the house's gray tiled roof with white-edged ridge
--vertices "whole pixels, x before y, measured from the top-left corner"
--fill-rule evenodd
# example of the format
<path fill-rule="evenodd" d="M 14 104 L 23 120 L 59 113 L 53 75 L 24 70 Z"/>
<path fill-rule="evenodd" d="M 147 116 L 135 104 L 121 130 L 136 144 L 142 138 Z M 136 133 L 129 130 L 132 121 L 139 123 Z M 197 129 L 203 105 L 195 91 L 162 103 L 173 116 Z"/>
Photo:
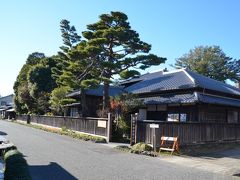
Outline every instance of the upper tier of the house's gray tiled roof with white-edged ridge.
<path fill-rule="evenodd" d="M 142 80 L 141 77 L 137 78 L 138 82 L 127 87 L 126 90 L 130 93 L 140 94 L 171 89 L 201 87 L 228 94 L 240 95 L 240 89 L 234 86 L 184 69 L 163 74 L 152 74 L 152 76 L 151 74 L 148 74 L 148 76 L 144 75 L 145 77 L 142 78 Z"/>

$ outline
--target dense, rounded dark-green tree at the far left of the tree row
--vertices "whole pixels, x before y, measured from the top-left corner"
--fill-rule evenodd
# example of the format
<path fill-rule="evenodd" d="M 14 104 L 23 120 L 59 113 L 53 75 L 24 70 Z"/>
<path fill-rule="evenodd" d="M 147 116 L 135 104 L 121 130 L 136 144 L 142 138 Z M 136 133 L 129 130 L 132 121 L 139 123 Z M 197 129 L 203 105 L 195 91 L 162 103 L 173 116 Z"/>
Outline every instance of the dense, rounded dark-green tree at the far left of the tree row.
<path fill-rule="evenodd" d="M 49 111 L 49 97 L 56 87 L 51 69 L 53 58 L 43 53 L 32 53 L 23 65 L 14 84 L 15 107 L 18 113 L 45 114 Z"/>

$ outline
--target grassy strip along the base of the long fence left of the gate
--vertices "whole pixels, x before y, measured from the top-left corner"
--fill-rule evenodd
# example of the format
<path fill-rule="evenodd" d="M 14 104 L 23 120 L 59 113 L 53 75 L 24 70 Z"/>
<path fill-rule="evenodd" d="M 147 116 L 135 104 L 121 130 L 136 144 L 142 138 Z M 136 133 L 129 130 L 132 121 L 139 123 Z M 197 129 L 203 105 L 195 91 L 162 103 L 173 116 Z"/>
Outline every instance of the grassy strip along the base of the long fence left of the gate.
<path fill-rule="evenodd" d="M 84 140 L 84 141 L 92 141 L 95 143 L 106 143 L 107 142 L 105 138 L 68 130 L 66 127 L 62 127 L 61 129 L 58 129 L 58 128 L 48 127 L 48 126 L 44 126 L 44 125 L 25 124 L 25 123 L 21 123 L 21 122 L 17 122 L 17 121 L 14 121 L 14 122 L 21 124 L 21 125 L 28 126 L 28 127 L 32 127 L 35 129 L 40 129 L 40 130 L 51 132 L 51 133 L 70 136 L 72 138 L 80 139 L 80 140 Z"/>

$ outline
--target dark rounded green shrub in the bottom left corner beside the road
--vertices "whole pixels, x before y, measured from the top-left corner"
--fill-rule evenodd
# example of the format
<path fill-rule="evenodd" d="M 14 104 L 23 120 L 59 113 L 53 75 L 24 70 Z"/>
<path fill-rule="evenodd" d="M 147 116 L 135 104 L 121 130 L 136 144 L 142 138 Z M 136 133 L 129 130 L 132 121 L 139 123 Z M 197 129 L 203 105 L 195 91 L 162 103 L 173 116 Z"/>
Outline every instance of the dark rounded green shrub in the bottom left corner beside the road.
<path fill-rule="evenodd" d="M 32 179 L 28 165 L 23 155 L 18 150 L 9 150 L 4 155 L 5 171 L 4 179 Z"/>

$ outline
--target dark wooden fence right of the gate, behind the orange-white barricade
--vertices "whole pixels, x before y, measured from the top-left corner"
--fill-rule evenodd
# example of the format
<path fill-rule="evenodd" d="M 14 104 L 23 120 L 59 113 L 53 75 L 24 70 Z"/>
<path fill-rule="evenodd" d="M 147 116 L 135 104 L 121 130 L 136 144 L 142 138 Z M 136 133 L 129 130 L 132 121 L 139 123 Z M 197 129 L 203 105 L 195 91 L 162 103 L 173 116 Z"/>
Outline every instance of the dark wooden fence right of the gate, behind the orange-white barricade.
<path fill-rule="evenodd" d="M 155 129 L 157 147 L 159 147 L 161 136 L 178 136 L 180 145 L 240 140 L 240 124 L 145 120 L 135 121 L 135 137 L 132 135 L 134 143 L 153 144 L 154 131 L 150 128 L 150 124 L 159 125 L 159 128 Z"/>

